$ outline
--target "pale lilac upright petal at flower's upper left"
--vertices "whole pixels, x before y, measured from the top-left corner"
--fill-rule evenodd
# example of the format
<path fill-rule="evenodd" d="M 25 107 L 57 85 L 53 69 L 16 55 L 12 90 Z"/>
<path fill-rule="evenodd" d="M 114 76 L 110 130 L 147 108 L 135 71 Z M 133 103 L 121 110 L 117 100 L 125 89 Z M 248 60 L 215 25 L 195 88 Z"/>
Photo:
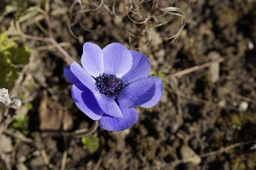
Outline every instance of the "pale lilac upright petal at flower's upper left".
<path fill-rule="evenodd" d="M 104 73 L 102 49 L 96 44 L 84 43 L 81 58 L 82 67 L 93 77 Z"/>

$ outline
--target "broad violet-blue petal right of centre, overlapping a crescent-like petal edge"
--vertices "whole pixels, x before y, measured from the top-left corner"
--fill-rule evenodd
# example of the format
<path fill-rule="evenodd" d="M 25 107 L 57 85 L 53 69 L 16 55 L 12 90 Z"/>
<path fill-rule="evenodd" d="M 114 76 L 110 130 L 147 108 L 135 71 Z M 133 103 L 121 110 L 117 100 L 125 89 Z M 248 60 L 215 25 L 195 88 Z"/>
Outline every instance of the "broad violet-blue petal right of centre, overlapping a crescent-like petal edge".
<path fill-rule="evenodd" d="M 125 108 L 137 107 L 155 95 L 155 81 L 152 77 L 140 78 L 125 87 L 122 94 L 117 96 L 118 102 Z"/>

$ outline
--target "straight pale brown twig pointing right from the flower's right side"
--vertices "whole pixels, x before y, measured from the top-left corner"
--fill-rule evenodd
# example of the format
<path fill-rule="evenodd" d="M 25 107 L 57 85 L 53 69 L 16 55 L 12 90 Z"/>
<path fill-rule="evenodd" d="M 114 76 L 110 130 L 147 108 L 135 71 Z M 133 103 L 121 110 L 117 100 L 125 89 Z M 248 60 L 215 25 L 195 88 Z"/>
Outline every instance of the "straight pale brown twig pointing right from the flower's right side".
<path fill-rule="evenodd" d="M 205 63 L 205 64 L 202 64 L 202 65 L 196 65 L 195 67 L 188 68 L 188 69 L 185 69 L 183 71 L 176 72 L 174 74 L 164 76 L 163 78 L 180 77 L 180 76 L 183 76 L 184 74 L 188 74 L 188 73 L 191 73 L 191 72 L 195 72 L 199 69 L 209 67 L 210 65 L 212 65 L 214 63 L 221 63 L 222 61 L 224 61 L 224 57 L 220 57 L 220 59 L 218 59 L 218 60 L 210 61 L 209 63 Z"/>

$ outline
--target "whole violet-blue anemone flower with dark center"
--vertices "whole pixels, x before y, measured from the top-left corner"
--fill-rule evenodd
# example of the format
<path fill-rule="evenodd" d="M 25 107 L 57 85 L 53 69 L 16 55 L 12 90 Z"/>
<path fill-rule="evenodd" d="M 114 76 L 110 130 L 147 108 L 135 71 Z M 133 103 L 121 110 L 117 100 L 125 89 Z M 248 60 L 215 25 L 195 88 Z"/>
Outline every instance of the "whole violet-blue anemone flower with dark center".
<path fill-rule="evenodd" d="M 142 53 L 112 43 L 101 49 L 85 43 L 82 67 L 64 68 L 72 97 L 79 109 L 101 128 L 122 131 L 139 118 L 136 106 L 152 107 L 162 96 L 162 80 L 149 76 L 150 61 Z"/>

